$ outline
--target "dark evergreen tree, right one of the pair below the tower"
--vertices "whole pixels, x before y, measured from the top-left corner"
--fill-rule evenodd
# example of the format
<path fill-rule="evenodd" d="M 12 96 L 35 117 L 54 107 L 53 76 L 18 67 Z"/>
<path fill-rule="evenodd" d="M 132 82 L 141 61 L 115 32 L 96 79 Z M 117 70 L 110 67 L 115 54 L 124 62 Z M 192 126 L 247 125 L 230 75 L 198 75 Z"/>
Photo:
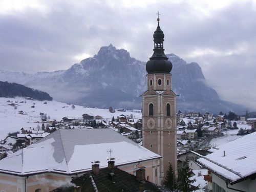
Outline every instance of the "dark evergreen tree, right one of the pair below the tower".
<path fill-rule="evenodd" d="M 184 166 L 180 172 L 179 190 L 184 192 L 194 191 L 198 187 L 189 187 L 191 183 L 194 183 L 196 179 L 189 180 L 189 173 L 191 169 L 189 168 L 189 160 L 184 161 Z"/>

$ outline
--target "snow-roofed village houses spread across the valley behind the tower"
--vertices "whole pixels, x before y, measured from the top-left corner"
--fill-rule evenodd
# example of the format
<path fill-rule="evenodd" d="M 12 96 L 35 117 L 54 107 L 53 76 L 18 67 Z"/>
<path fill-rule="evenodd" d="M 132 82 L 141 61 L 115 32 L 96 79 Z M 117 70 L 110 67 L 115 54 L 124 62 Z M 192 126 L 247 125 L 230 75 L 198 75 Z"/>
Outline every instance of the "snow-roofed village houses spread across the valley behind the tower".
<path fill-rule="evenodd" d="M 13 98 L 5 99 L 6 103 L 13 108 L 16 107 L 14 106 L 15 103 L 26 105 L 27 101 L 32 101 L 29 98 L 22 99 L 22 101 Z M 33 105 L 31 105 L 31 108 L 35 108 L 35 102 L 36 101 L 32 102 Z M 47 102 L 43 103 L 47 104 Z M 62 106 L 62 108 L 67 107 L 68 106 Z M 134 114 L 127 115 L 126 110 L 117 109 L 116 111 L 119 112 L 119 114 L 122 112 L 126 113 L 125 115 L 120 114 L 115 118 L 115 110 L 105 109 L 105 111 L 108 111 L 111 115 L 113 114 L 113 117 L 106 118 L 97 114 L 84 113 L 81 114 L 80 118 L 69 118 L 68 116 L 64 116 L 60 120 L 56 120 L 49 118 L 50 116 L 47 116 L 46 113 L 40 112 L 38 114 L 40 121 L 36 122 L 36 127 L 29 127 L 28 129 L 24 129 L 24 127 L 16 127 L 14 133 L 9 133 L 9 136 L 6 136 L 6 138 L 1 141 L 0 153 L 3 155 L 4 152 L 15 152 L 20 148 L 33 144 L 58 129 L 109 128 L 120 133 L 124 137 L 141 144 L 142 119 L 140 117 L 135 117 Z M 19 115 L 27 114 L 26 111 L 18 111 L 18 109 L 14 110 L 13 113 Z M 176 115 L 177 149 L 179 154 L 209 147 L 209 141 L 212 138 L 221 137 L 228 130 L 238 130 L 237 133 L 240 133 L 240 135 L 252 133 L 254 132 L 256 122 L 256 119 L 253 118 L 248 118 L 247 121 L 245 121 L 244 116 L 240 116 L 239 121 L 225 119 L 224 114 L 214 117 L 214 115 L 210 113 L 201 115 L 196 112 L 189 112 L 187 114 L 178 112 Z"/>

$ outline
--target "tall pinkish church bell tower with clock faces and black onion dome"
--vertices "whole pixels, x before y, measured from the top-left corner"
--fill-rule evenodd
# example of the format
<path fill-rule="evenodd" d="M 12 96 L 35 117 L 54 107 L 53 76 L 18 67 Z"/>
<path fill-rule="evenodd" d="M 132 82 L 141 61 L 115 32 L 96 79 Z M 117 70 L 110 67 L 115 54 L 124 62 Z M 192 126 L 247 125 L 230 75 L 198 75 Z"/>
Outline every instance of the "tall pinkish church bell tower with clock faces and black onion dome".
<path fill-rule="evenodd" d="M 176 94 L 172 91 L 172 62 L 164 54 L 164 34 L 154 32 L 154 53 L 146 63 L 147 90 L 142 95 L 143 146 L 162 156 L 158 178 L 164 178 L 169 164 L 177 173 Z"/>

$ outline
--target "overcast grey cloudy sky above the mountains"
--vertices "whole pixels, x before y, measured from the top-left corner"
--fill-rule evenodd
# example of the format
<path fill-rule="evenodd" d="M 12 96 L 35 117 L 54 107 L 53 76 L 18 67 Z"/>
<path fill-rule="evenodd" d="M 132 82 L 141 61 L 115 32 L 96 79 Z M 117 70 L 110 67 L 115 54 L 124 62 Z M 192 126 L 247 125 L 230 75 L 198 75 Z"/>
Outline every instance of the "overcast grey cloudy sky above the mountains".
<path fill-rule="evenodd" d="M 197 62 L 222 99 L 256 109 L 256 1 L 0 0 L 0 69 L 68 69 L 111 43 L 147 61 L 158 10 L 165 53 Z"/>

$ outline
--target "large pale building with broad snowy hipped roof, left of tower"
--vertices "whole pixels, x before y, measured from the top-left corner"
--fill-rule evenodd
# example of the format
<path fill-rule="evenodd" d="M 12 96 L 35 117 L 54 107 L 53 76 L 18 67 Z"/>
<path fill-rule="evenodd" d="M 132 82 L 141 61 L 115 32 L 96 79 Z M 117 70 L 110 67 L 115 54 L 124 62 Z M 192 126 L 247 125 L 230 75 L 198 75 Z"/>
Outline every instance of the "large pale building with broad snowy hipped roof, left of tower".
<path fill-rule="evenodd" d="M 0 191 L 51 191 L 54 183 L 70 183 L 72 177 L 88 173 L 92 160 L 99 168 L 115 167 L 134 175 L 145 167 L 145 178 L 160 185 L 161 156 L 111 129 L 57 130 L 0 161 Z"/>

